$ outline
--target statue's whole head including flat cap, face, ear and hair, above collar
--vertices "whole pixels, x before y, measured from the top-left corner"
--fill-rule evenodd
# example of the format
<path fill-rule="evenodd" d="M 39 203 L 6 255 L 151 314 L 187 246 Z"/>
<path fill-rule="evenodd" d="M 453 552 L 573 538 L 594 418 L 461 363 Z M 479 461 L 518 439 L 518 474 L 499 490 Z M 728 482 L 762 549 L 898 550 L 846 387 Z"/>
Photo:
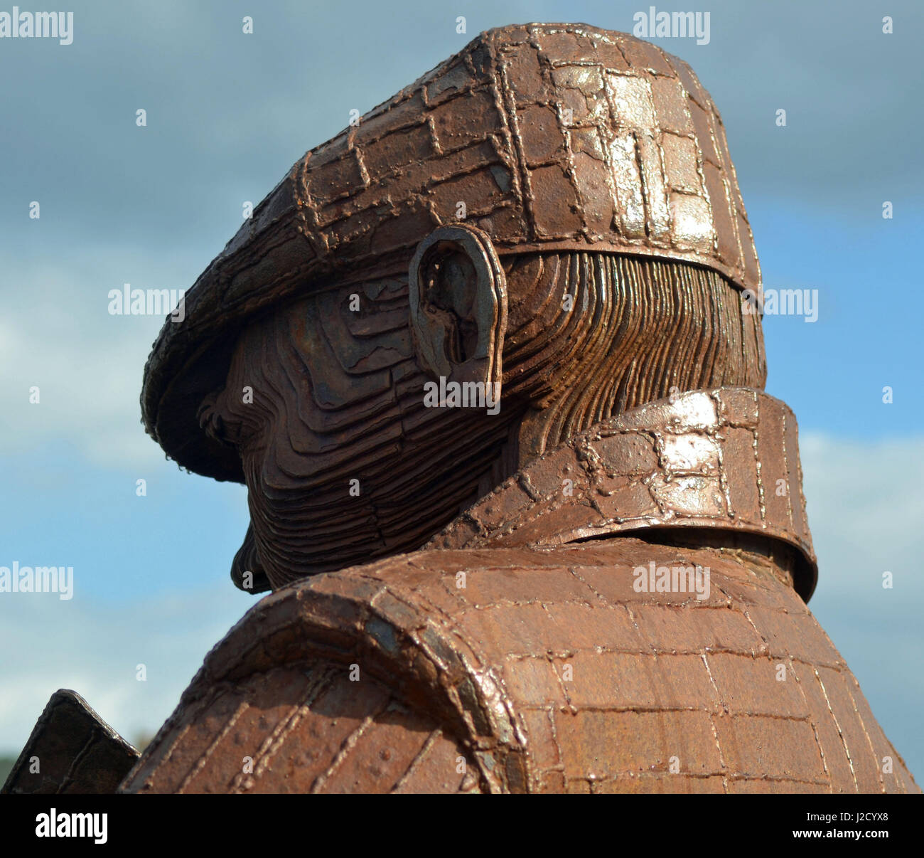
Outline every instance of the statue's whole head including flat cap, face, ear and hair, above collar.
<path fill-rule="evenodd" d="M 275 589 L 418 548 L 623 411 L 762 388 L 746 290 L 735 168 L 687 64 L 585 25 L 488 31 L 261 202 L 164 325 L 144 422 L 246 482 L 232 577 Z M 429 407 L 441 378 L 499 386 L 499 410 Z"/>

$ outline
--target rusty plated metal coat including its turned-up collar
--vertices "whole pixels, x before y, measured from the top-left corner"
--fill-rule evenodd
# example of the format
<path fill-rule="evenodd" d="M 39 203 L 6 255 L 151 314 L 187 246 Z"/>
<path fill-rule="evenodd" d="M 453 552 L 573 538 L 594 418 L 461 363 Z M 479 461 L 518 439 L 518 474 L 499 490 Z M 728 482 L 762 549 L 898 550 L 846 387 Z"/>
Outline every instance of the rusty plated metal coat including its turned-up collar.
<path fill-rule="evenodd" d="M 280 589 L 208 656 L 121 789 L 916 791 L 786 575 L 813 566 L 801 495 L 768 509 L 755 474 L 797 485 L 787 413 L 732 388 L 628 411 L 533 461 L 434 545 Z M 760 452 L 729 445 L 736 429 Z M 711 492 L 660 494 L 667 475 L 683 484 L 717 460 Z M 580 488 L 556 502 L 567 479 Z M 607 503 L 621 521 L 602 522 Z M 762 514 L 772 538 L 657 542 L 662 521 L 692 512 L 699 530 L 726 509 L 745 533 Z M 654 541 L 574 541 L 624 521 Z M 708 567 L 708 597 L 638 592 L 650 563 Z"/>

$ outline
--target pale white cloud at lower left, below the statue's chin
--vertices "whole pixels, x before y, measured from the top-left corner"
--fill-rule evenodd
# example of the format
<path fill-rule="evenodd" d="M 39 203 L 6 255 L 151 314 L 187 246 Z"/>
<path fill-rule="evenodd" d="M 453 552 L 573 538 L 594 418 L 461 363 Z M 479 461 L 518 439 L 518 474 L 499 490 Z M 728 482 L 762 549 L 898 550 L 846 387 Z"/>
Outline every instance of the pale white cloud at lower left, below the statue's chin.
<path fill-rule="evenodd" d="M 205 654 L 253 604 L 230 585 L 125 606 L 2 594 L 0 749 L 17 753 L 59 688 L 81 696 L 129 742 L 173 711 Z M 17 654 L 13 656 L 12 654 Z M 147 680 L 136 679 L 143 664 Z"/>

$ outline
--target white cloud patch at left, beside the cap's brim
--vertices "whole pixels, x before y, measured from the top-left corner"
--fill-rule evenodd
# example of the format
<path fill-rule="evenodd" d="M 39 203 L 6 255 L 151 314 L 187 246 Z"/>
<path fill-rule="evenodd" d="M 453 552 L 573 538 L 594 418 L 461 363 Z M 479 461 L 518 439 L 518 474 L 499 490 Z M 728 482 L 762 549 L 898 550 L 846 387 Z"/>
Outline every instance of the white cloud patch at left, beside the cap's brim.
<path fill-rule="evenodd" d="M 164 319 L 110 315 L 108 292 L 123 284 L 117 272 L 138 261 L 110 255 L 106 264 L 110 273 L 100 282 L 75 272 L 79 264 L 30 268 L 20 290 L 28 300 L 6 306 L 0 317 L 0 455 L 19 457 L 66 441 L 108 468 L 164 460 L 144 433 L 139 405 L 142 369 Z M 30 402 L 32 386 L 39 388 L 38 404 Z"/>

